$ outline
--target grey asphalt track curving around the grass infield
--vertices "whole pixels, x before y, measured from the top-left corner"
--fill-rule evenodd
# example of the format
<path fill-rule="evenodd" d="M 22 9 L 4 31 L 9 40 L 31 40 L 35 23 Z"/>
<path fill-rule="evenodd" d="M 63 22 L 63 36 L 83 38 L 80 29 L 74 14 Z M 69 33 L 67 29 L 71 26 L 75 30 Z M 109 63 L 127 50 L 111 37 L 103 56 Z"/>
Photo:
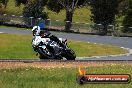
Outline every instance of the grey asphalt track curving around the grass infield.
<path fill-rule="evenodd" d="M 3 33 L 10 33 L 10 34 L 22 34 L 22 35 L 29 35 L 32 34 L 31 30 L 17 30 L 12 28 L 0 28 L 0 32 Z M 132 49 L 132 38 L 130 37 L 113 37 L 113 36 L 98 36 L 98 35 L 84 35 L 84 34 L 74 34 L 74 33 L 64 33 L 64 32 L 51 32 L 52 34 L 67 38 L 67 39 L 74 39 L 78 41 L 85 41 L 85 42 L 93 42 L 98 44 L 109 44 L 109 45 L 116 45 L 120 47 L 125 47 L 128 49 Z M 95 57 L 80 57 L 81 61 L 132 61 L 132 54 L 126 55 L 111 55 L 111 56 L 95 56 Z M 80 61 L 77 58 L 76 61 Z M 20 60 L 14 60 L 20 61 Z M 23 60 L 28 62 L 28 60 Z M 36 60 L 35 60 L 36 61 Z M 40 60 L 37 60 L 40 61 Z M 29 61 L 30 62 L 30 61 Z"/>

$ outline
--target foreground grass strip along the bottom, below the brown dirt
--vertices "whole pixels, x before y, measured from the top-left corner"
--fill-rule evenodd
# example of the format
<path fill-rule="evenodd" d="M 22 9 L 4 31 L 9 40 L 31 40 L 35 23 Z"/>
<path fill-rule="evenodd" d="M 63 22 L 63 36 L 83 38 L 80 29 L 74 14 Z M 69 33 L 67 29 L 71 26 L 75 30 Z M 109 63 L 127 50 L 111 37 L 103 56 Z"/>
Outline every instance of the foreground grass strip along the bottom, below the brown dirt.
<path fill-rule="evenodd" d="M 131 65 L 86 68 L 87 74 L 130 74 Z M 86 84 L 76 82 L 76 68 L 17 68 L 0 70 L 1 88 L 132 88 L 130 84 Z"/>

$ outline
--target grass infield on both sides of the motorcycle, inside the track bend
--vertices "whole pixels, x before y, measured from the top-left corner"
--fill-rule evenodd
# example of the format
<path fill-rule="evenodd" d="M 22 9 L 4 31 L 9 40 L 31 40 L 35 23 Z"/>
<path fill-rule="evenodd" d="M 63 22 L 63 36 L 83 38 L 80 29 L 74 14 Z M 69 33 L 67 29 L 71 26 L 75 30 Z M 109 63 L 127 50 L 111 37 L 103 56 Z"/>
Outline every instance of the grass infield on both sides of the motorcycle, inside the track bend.
<path fill-rule="evenodd" d="M 0 34 L 0 58 L 2 59 L 35 59 L 38 58 L 31 47 L 31 35 Z M 77 56 L 101 56 L 126 53 L 127 50 L 111 45 L 68 41 Z M 101 52 L 100 52 L 101 51 Z"/>

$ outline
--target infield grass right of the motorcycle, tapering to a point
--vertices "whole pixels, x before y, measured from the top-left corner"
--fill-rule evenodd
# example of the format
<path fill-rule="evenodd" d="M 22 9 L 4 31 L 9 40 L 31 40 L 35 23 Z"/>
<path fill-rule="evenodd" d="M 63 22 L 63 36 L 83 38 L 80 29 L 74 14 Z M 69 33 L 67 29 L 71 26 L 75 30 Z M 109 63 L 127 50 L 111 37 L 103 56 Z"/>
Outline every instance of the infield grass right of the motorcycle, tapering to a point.
<path fill-rule="evenodd" d="M 78 56 L 103 56 L 127 52 L 126 50 L 112 45 L 98 45 L 86 42 L 70 42 L 69 45 L 75 50 Z"/>

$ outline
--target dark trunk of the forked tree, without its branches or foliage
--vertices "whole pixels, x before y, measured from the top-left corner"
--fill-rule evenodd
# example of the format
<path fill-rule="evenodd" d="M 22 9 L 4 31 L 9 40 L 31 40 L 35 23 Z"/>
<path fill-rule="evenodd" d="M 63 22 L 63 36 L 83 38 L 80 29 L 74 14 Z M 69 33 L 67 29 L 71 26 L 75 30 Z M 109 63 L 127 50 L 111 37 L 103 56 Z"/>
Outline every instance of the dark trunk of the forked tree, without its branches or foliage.
<path fill-rule="evenodd" d="M 72 26 L 72 17 L 73 12 L 66 10 L 66 24 L 65 24 L 65 31 L 69 32 Z"/>

